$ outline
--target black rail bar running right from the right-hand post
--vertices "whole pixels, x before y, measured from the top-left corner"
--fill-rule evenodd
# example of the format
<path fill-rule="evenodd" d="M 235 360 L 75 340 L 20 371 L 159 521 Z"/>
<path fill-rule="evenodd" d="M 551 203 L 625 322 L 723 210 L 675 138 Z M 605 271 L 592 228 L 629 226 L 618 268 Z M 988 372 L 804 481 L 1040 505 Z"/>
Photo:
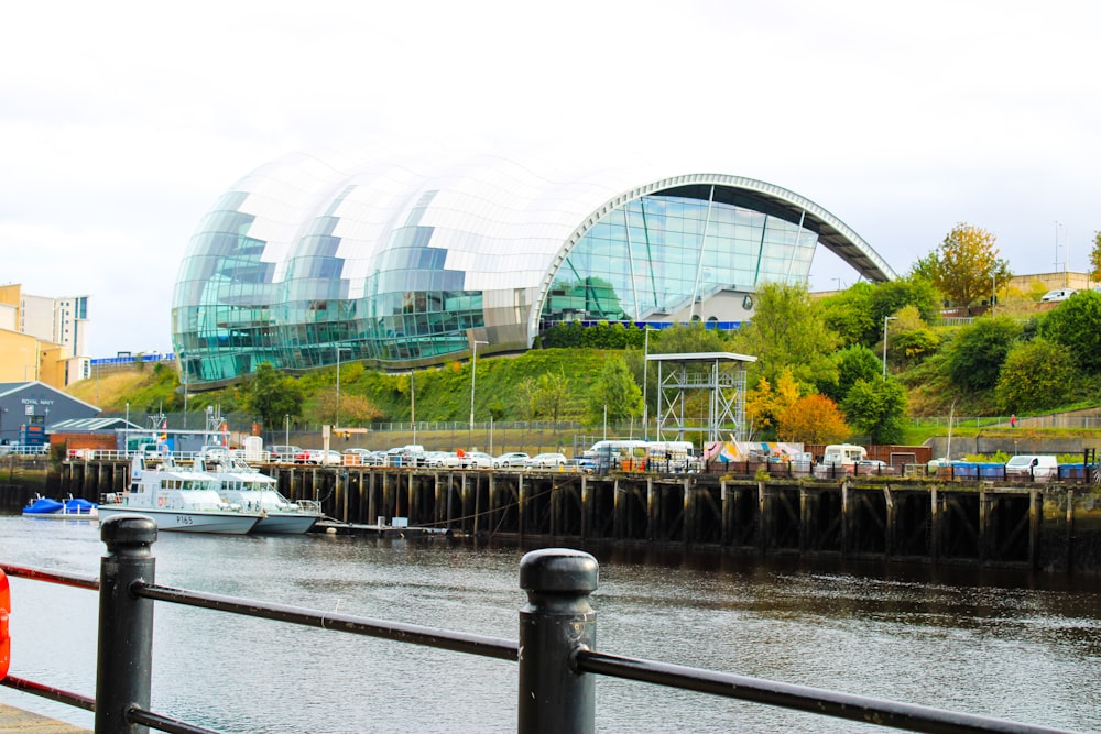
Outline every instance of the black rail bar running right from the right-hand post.
<path fill-rule="evenodd" d="M 795 686 L 732 673 L 640 660 L 579 649 L 574 656 L 579 672 L 637 680 L 682 690 L 711 693 L 795 709 L 819 715 L 861 721 L 879 726 L 931 734 L 1001 732 L 1003 734 L 1071 734 L 1064 730 L 1031 726 L 1000 719 L 953 713 L 928 706 L 882 701 L 826 689 Z"/>

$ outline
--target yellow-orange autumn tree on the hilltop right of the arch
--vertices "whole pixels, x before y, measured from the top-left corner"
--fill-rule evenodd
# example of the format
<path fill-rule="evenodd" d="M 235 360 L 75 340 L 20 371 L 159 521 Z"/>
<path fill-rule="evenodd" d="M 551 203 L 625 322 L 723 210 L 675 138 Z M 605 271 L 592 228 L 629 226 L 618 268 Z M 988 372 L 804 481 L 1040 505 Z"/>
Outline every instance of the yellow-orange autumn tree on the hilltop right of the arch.
<path fill-rule="evenodd" d="M 991 295 L 995 281 L 1005 283 L 1013 277 L 1009 264 L 998 256 L 995 240 L 986 230 L 961 222 L 933 253 L 917 262 L 913 272 L 927 275 L 953 303 L 969 306 Z"/>

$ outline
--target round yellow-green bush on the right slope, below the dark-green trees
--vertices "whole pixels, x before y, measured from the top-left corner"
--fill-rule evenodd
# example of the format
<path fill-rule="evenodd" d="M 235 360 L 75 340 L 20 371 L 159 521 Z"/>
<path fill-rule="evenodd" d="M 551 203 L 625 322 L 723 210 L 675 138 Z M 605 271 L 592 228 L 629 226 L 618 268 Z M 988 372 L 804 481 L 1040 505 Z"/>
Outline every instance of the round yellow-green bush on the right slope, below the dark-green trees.
<path fill-rule="evenodd" d="M 994 395 L 1006 413 L 1056 408 L 1070 397 L 1077 376 L 1069 349 L 1037 338 L 1013 346 Z"/>

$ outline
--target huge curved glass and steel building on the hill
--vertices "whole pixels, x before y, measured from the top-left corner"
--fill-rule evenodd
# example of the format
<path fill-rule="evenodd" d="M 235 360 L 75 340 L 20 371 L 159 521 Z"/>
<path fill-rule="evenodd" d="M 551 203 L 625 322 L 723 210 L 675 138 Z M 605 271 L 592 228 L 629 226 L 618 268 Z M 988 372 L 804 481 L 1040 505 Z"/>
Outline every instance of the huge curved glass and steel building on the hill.
<path fill-rule="evenodd" d="M 403 370 L 528 349 L 562 320 L 751 318 L 766 282 L 805 283 L 826 247 L 886 263 L 821 207 L 771 184 L 639 165 L 292 155 L 261 166 L 192 237 L 173 297 L 190 386 L 262 362 Z"/>

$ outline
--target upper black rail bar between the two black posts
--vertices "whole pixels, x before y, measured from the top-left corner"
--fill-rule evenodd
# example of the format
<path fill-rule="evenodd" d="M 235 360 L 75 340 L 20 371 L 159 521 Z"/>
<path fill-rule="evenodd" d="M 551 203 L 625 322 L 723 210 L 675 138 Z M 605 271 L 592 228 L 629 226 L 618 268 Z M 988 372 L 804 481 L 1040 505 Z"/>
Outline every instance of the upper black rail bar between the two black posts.
<path fill-rule="evenodd" d="M 350 614 L 331 614 L 316 610 L 303 609 L 301 606 L 287 606 L 285 604 L 271 604 L 221 594 L 209 594 L 185 589 L 173 589 L 157 584 L 134 583 L 130 591 L 137 596 L 153 599 L 156 601 L 175 602 L 188 606 L 200 606 L 203 609 L 217 610 L 219 612 L 232 612 L 246 616 L 255 616 L 264 620 L 276 620 L 291 624 L 301 624 L 308 627 L 320 627 L 321 629 L 333 629 L 335 632 L 348 632 L 355 635 L 366 635 L 368 637 L 380 637 L 392 639 L 399 643 L 411 643 L 413 645 L 424 645 L 456 653 L 468 653 L 482 657 L 511 660 L 519 659 L 520 646 L 517 643 L 501 639 L 499 637 L 484 637 L 481 635 L 468 635 L 447 629 L 436 629 L 414 624 L 403 624 L 401 622 L 389 622 L 385 620 L 372 620 L 370 617 L 352 616 Z"/>

